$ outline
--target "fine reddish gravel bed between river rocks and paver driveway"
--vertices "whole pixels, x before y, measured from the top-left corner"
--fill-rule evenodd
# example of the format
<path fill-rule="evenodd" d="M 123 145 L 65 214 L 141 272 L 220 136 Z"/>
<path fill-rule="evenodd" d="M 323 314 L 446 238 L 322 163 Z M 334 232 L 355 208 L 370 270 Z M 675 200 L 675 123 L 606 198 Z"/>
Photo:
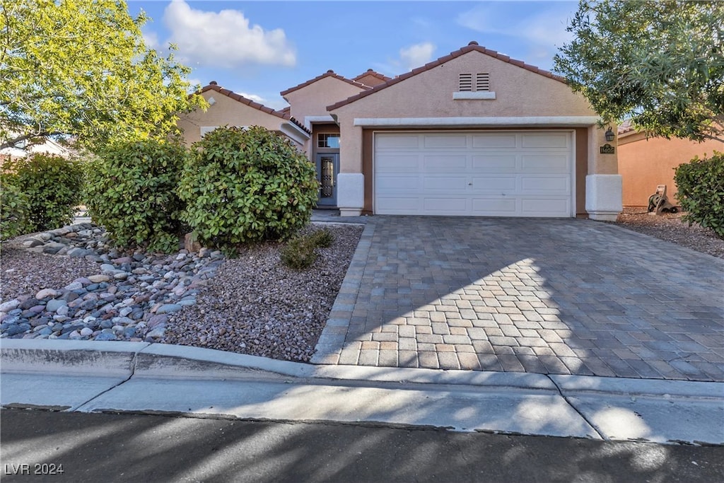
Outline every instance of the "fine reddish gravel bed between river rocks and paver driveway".
<path fill-rule="evenodd" d="M 319 249 L 311 269 L 284 266 L 279 243 L 245 248 L 227 260 L 196 305 L 169 318 L 163 342 L 309 361 L 363 231 L 359 225 L 326 228 L 334 243 Z"/>

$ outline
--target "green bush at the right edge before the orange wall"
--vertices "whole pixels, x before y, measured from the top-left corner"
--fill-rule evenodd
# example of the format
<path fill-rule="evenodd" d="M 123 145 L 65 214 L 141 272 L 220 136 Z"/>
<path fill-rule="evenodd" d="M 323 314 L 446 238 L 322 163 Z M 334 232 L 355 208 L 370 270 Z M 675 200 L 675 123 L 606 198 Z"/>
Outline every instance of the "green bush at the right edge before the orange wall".
<path fill-rule="evenodd" d="M 724 238 L 724 153 L 714 151 L 708 159 L 696 156 L 680 164 L 674 181 L 679 203 L 687 211 L 684 219 L 711 228 Z"/>

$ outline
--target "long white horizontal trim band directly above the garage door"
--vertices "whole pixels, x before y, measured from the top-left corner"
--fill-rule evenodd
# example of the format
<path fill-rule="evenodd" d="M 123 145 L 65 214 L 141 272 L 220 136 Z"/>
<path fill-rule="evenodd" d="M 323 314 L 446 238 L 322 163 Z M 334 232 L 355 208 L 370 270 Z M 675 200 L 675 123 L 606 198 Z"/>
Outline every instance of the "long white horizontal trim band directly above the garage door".
<path fill-rule="evenodd" d="M 306 119 L 306 118 L 305 118 Z M 355 117 L 355 126 L 591 126 L 597 116 L 521 116 L 521 117 Z"/>

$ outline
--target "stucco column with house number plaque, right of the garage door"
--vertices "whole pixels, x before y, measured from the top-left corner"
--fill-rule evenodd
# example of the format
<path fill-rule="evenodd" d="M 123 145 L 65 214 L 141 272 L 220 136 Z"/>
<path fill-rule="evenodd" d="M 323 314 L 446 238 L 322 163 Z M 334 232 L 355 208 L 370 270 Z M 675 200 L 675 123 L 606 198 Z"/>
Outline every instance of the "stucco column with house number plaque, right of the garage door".
<path fill-rule="evenodd" d="M 591 219 L 615 222 L 623 209 L 623 181 L 618 174 L 616 138 L 607 141 L 606 130 L 607 127 L 589 127 L 586 211 Z M 616 127 L 612 126 L 612 130 L 615 133 Z"/>

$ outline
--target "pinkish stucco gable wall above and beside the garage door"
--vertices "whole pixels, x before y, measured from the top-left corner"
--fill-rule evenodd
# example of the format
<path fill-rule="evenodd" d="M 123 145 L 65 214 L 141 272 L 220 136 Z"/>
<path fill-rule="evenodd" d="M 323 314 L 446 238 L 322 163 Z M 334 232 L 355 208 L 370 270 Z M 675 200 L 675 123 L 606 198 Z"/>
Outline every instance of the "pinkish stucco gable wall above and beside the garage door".
<path fill-rule="evenodd" d="M 494 100 L 453 100 L 460 73 L 487 72 Z M 332 111 L 342 137 L 340 172 L 361 172 L 362 133 L 355 118 L 426 117 L 592 117 L 583 96 L 558 80 L 471 51 Z M 552 122 L 555 125 L 555 122 Z M 591 130 L 589 146 L 602 136 Z M 595 133 L 595 134 L 594 134 Z M 592 148 L 589 148 L 589 150 Z M 592 159 L 597 160 L 597 156 Z M 596 172 L 597 162 L 589 166 Z M 610 164 L 611 159 L 602 161 Z M 613 156 L 615 166 L 615 155 Z"/>

